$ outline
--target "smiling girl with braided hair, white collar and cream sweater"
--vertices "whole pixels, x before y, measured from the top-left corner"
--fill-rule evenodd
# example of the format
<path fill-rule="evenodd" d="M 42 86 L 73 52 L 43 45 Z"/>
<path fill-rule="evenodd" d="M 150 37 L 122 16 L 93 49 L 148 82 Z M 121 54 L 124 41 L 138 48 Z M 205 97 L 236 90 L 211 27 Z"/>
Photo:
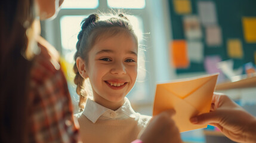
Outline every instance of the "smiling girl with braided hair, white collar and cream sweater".
<path fill-rule="evenodd" d="M 119 14 L 100 20 L 91 14 L 82 21 L 76 49 L 76 92 L 84 109 L 78 115 L 82 141 L 133 141 L 151 117 L 135 113 L 125 97 L 135 84 L 138 60 L 138 40 L 128 19 Z M 93 99 L 87 99 L 87 78 Z"/>

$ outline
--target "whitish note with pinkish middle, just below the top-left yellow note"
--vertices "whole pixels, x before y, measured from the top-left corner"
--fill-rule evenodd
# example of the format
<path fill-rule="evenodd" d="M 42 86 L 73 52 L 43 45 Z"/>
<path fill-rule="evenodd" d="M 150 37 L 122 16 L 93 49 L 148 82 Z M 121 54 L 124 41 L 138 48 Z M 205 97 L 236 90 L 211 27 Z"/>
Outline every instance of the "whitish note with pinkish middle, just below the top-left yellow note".
<path fill-rule="evenodd" d="M 196 15 L 187 15 L 183 17 L 184 32 L 187 39 L 201 39 L 202 30 L 200 21 Z"/>

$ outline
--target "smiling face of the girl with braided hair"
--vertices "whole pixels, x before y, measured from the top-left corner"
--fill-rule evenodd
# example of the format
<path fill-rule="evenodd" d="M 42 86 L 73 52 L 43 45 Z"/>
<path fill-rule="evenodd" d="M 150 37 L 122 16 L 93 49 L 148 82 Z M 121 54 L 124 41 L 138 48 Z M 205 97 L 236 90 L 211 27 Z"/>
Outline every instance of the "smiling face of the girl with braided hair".
<path fill-rule="evenodd" d="M 137 78 L 137 53 L 134 38 L 127 33 L 95 42 L 85 67 L 95 102 L 112 110 L 124 104 Z"/>

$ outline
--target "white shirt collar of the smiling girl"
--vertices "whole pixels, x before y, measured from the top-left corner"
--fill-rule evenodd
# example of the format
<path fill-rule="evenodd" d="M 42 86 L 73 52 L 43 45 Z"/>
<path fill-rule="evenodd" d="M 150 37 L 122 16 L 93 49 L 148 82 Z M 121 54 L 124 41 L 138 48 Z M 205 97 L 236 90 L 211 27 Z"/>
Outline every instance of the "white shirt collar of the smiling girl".
<path fill-rule="evenodd" d="M 106 108 L 100 104 L 97 104 L 97 102 L 92 101 L 90 98 L 88 98 L 85 104 L 85 110 L 83 114 L 89 120 L 91 120 L 92 123 L 95 123 L 107 111 L 115 112 L 116 113 L 115 119 L 125 119 L 128 117 L 135 117 L 135 111 L 132 109 L 131 103 L 129 102 L 127 97 L 125 97 L 124 104 L 120 108 L 118 108 L 118 110 L 116 111 L 110 110 L 109 108 Z M 105 116 L 105 119 L 106 119 L 106 116 Z"/>

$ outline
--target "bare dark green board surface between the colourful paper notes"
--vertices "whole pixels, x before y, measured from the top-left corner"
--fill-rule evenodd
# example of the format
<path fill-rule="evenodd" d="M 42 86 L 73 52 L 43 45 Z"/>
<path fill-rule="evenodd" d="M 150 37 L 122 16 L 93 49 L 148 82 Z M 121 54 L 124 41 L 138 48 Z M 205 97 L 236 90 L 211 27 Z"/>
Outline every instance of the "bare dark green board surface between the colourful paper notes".
<path fill-rule="evenodd" d="M 203 1 L 203 0 L 201 0 Z M 206 1 L 206 0 L 205 0 Z M 207 0 L 209 1 L 209 0 Z M 193 15 L 198 13 L 199 0 L 190 0 Z M 234 60 L 234 68 L 237 69 L 243 64 L 254 62 L 254 52 L 256 52 L 256 43 L 247 43 L 243 37 L 242 17 L 256 17 L 256 1 L 255 0 L 212 0 L 215 4 L 217 24 L 222 30 L 222 44 L 217 47 L 209 47 L 205 42 L 205 27 L 201 24 L 204 57 L 208 55 L 219 55 L 222 60 L 228 60 L 227 55 L 227 39 L 240 39 L 243 47 L 243 58 L 232 58 Z M 169 0 L 169 10 L 171 15 L 172 38 L 186 39 L 184 36 L 183 17 L 190 14 L 177 14 L 174 10 L 174 0 Z M 256 25 L 255 25 L 256 26 Z M 177 69 L 177 73 L 191 73 L 205 71 L 202 63 L 190 62 L 187 69 Z"/>

